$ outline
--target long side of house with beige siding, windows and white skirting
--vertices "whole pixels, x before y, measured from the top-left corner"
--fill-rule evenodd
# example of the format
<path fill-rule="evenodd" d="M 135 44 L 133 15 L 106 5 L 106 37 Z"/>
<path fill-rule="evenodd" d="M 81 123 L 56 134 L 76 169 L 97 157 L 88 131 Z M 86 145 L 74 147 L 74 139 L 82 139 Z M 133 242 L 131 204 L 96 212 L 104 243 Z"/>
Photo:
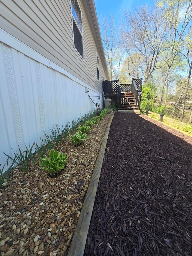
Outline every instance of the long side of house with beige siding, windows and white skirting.
<path fill-rule="evenodd" d="M 95 109 L 108 79 L 94 0 L 0 1 L 0 163 Z M 102 97 L 100 107 L 102 108 Z"/>

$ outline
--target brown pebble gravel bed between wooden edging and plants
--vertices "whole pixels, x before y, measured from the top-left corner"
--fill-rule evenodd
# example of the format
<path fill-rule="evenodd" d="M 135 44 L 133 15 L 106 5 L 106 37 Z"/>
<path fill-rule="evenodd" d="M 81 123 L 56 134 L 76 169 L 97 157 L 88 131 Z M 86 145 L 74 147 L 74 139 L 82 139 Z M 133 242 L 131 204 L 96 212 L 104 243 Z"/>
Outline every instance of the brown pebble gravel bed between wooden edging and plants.
<path fill-rule="evenodd" d="M 110 118 L 93 125 L 79 147 L 69 137 L 54 147 L 68 155 L 58 177 L 42 170 L 40 159 L 26 172 L 14 169 L 9 184 L 0 188 L 2 256 L 67 255 Z"/>

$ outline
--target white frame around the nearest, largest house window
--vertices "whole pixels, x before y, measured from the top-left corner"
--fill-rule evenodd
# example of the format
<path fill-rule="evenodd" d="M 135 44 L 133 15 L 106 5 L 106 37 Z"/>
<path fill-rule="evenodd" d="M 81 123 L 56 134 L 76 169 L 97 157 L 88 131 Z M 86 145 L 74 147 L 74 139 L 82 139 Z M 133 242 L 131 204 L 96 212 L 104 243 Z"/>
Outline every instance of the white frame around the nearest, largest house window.
<path fill-rule="evenodd" d="M 84 60 L 82 11 L 81 11 L 81 8 L 80 8 L 80 5 L 79 5 L 78 0 L 76 0 L 76 2 L 77 2 L 77 4 L 78 4 L 78 8 L 79 8 L 79 10 L 80 10 L 80 12 L 81 12 L 81 26 L 82 26 L 82 32 L 81 32 L 81 30 L 79 29 L 79 26 L 78 26 L 78 24 L 77 24 L 77 22 L 76 22 L 75 17 L 73 16 L 73 10 L 72 10 L 72 5 L 73 5 L 73 4 L 72 4 L 72 0 L 70 0 L 71 24 L 72 24 L 72 31 L 73 31 L 73 47 L 74 47 L 74 49 L 76 50 L 76 52 L 79 54 L 79 56 L 81 56 L 81 58 Z M 73 7 L 73 8 L 74 8 L 74 7 Z M 74 10 L 75 10 L 75 8 L 74 8 Z M 76 10 L 75 10 L 75 13 L 76 13 Z M 77 14 L 77 13 L 76 13 L 76 14 Z M 77 14 L 77 16 L 78 16 L 78 14 Z M 78 18 L 79 18 L 79 16 L 78 16 Z M 81 53 L 79 53 L 79 51 L 78 51 L 77 48 L 75 47 L 75 38 L 74 38 L 73 22 L 74 22 L 76 28 L 78 29 L 78 31 L 79 31 L 79 33 L 80 33 L 80 36 L 81 36 L 81 38 L 82 38 L 82 55 L 81 55 Z"/>

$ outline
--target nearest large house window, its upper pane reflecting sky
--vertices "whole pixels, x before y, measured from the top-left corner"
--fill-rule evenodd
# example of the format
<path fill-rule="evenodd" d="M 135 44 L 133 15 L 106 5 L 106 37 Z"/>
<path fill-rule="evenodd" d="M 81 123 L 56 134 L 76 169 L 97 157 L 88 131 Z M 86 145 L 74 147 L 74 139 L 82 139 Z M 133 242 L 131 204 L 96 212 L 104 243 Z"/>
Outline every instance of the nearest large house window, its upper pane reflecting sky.
<path fill-rule="evenodd" d="M 74 47 L 83 58 L 82 18 L 77 0 L 71 0 Z"/>

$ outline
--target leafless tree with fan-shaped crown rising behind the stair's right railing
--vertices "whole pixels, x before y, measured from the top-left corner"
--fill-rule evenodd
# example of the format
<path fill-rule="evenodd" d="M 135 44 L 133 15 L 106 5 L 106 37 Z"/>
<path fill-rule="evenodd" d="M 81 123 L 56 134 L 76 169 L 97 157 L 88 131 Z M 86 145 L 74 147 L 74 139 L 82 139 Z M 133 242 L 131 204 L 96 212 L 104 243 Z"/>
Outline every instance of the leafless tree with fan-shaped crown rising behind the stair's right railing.
<path fill-rule="evenodd" d="M 144 60 L 146 83 L 157 66 L 159 55 L 164 51 L 167 26 L 158 6 L 152 8 L 144 5 L 139 10 L 135 7 L 134 13 L 125 10 L 124 22 L 127 27 L 127 41 Z"/>

